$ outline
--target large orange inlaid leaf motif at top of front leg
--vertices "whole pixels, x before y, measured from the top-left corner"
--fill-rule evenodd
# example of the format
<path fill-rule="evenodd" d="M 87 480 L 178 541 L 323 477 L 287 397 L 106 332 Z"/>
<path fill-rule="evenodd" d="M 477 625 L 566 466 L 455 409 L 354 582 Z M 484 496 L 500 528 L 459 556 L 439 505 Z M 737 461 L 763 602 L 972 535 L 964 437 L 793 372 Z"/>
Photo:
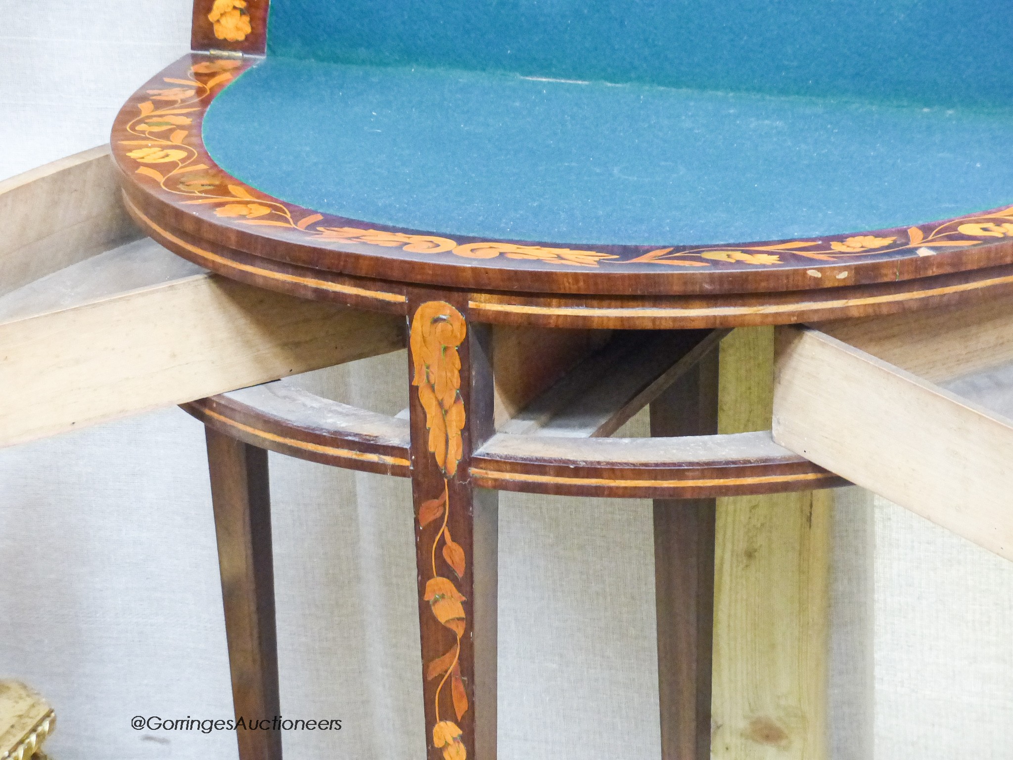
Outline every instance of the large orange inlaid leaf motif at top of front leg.
<path fill-rule="evenodd" d="M 466 333 L 464 317 L 445 301 L 428 301 L 411 321 L 412 385 L 425 411 L 428 449 L 444 476 L 453 477 L 463 454 L 464 402 L 461 357 L 457 347 Z"/>

